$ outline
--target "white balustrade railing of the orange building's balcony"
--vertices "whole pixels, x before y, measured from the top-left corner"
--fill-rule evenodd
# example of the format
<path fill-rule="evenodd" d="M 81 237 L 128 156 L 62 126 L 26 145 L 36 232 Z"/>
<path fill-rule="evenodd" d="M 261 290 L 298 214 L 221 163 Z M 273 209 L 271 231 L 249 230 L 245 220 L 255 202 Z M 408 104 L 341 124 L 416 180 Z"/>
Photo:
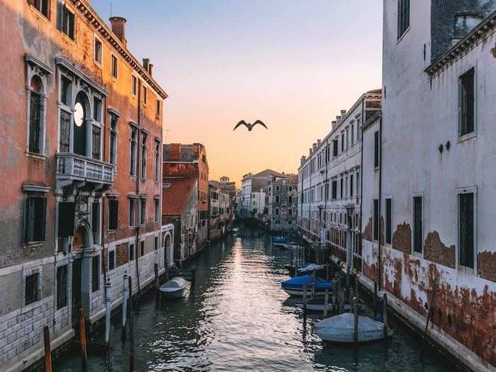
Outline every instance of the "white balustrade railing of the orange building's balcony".
<path fill-rule="evenodd" d="M 57 180 L 80 180 L 113 184 L 115 165 L 69 152 L 57 153 Z"/>

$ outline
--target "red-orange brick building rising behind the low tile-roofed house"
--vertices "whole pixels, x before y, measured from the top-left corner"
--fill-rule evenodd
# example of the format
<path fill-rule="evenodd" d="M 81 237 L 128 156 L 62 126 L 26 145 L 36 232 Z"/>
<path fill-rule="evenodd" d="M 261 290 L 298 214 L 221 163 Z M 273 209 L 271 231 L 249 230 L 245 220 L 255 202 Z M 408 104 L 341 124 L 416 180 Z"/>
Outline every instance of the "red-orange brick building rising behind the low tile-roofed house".
<path fill-rule="evenodd" d="M 198 226 L 196 246 L 202 249 L 208 238 L 208 162 L 201 143 L 164 145 L 164 177 L 193 177 L 197 180 Z"/>

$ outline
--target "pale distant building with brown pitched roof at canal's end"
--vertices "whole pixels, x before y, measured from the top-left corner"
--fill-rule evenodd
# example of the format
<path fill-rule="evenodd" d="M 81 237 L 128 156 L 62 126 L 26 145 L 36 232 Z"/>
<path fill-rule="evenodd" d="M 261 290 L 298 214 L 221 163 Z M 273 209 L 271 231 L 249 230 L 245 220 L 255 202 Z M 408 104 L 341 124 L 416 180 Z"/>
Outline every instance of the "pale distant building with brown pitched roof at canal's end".
<path fill-rule="evenodd" d="M 257 174 L 249 173 L 243 176 L 241 196 L 237 206 L 240 218 L 261 218 L 265 208 L 264 188 L 274 176 L 283 176 L 283 174 L 265 169 Z"/>

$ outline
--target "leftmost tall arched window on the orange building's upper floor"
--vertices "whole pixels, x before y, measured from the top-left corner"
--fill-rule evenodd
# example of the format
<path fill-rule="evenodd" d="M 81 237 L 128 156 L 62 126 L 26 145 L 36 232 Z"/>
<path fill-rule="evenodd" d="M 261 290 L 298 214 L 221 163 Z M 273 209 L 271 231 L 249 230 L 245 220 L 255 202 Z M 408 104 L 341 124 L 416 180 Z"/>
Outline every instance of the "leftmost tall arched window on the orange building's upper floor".
<path fill-rule="evenodd" d="M 43 130 L 45 128 L 45 100 L 43 98 L 43 82 L 37 75 L 29 84 L 29 152 L 43 154 Z"/>

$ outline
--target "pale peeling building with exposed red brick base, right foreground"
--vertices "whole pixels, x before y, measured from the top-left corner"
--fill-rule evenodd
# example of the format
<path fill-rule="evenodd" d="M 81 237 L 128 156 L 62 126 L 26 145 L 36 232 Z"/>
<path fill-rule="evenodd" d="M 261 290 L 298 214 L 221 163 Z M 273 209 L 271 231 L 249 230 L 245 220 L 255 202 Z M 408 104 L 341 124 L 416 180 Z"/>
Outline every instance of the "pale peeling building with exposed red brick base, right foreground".
<path fill-rule="evenodd" d="M 363 132 L 363 278 L 474 371 L 496 367 L 496 1 L 384 1 Z M 372 162 L 371 159 L 376 159 Z"/>

